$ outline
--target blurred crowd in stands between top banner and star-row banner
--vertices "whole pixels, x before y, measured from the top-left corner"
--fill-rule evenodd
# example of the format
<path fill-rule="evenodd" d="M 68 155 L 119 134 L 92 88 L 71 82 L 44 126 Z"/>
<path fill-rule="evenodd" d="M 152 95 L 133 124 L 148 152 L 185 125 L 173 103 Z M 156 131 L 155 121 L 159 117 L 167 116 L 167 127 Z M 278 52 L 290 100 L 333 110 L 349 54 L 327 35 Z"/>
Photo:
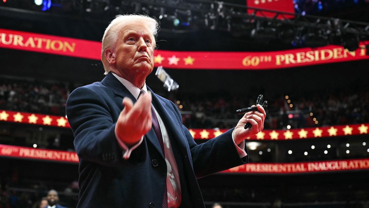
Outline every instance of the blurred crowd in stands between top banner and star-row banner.
<path fill-rule="evenodd" d="M 70 87 L 66 83 L 0 78 L 0 110 L 65 115 L 65 103 L 74 88 L 75 86 Z M 264 128 L 282 129 L 287 125 L 303 128 L 369 122 L 368 88 L 361 86 L 290 94 L 266 92 L 265 98 L 269 104 Z M 173 97 L 176 99 L 172 101 L 182 111 L 183 123 L 188 128 L 232 128 L 242 117 L 235 110 L 249 107 L 256 100 L 255 95 L 249 94 L 241 97 L 219 93 L 184 95 L 179 92 Z"/>

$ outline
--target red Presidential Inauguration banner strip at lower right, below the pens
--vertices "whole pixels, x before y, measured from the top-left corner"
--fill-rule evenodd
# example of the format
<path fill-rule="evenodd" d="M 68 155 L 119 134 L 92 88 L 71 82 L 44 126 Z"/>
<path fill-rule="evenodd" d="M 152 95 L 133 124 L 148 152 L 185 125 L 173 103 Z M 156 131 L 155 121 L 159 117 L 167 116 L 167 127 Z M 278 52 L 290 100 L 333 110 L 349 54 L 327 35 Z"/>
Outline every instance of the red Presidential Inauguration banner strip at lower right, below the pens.
<path fill-rule="evenodd" d="M 357 160 L 334 160 L 299 163 L 249 163 L 224 173 L 265 173 L 265 174 L 291 174 L 324 171 L 345 171 L 369 169 L 369 158 Z"/>

